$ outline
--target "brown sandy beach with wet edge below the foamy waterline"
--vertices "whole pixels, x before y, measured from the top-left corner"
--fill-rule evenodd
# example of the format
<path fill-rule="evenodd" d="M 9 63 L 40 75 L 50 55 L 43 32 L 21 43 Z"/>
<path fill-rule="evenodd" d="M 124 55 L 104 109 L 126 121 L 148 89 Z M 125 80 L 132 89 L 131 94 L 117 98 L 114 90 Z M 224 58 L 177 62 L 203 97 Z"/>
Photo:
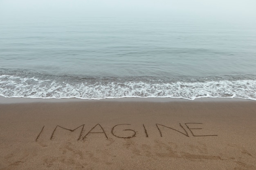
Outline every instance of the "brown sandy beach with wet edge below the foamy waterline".
<path fill-rule="evenodd" d="M 0 98 L 0 169 L 256 169 L 256 101 Z"/>

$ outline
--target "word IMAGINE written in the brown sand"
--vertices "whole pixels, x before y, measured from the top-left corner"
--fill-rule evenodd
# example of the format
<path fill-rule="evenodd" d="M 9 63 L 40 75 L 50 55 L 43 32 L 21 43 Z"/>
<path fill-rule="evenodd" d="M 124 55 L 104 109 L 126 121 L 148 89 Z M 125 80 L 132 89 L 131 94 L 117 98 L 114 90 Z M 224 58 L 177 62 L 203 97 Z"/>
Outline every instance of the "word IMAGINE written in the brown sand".
<path fill-rule="evenodd" d="M 191 127 L 189 127 L 189 125 L 191 125 L 191 124 L 194 124 L 194 126 L 195 126 L 195 124 L 202 124 L 202 123 L 184 123 L 186 129 L 189 130 L 189 132 L 192 134 L 193 137 L 218 136 L 218 135 L 206 135 L 206 134 L 204 134 L 204 135 L 195 135 L 195 131 L 196 131 L 196 130 L 200 130 L 200 129 L 202 129 L 202 128 L 191 128 Z M 131 124 L 117 124 L 117 125 L 113 126 L 112 129 L 111 129 L 111 134 L 112 134 L 113 136 L 115 136 L 115 137 L 118 137 L 118 138 L 126 138 L 126 139 L 127 139 L 127 138 L 135 137 L 135 136 L 136 136 L 136 131 L 135 131 L 135 130 L 124 128 L 124 127 L 127 127 L 128 125 L 131 125 Z M 171 128 L 171 127 L 168 127 L 168 126 L 165 126 L 165 125 L 162 125 L 162 124 L 155 124 L 155 125 L 156 125 L 157 130 L 159 131 L 160 137 L 163 137 L 162 131 L 163 131 L 164 129 L 171 129 L 172 131 L 175 131 L 176 133 L 179 133 L 179 134 L 181 134 L 181 135 L 185 135 L 186 137 L 190 137 L 190 136 L 189 136 L 189 133 L 188 133 L 188 130 L 186 130 L 186 129 L 182 126 L 182 124 L 180 124 L 180 123 L 179 123 L 179 125 L 180 125 L 180 127 L 183 129 L 183 131 L 179 131 L 179 130 L 177 130 L 177 129 L 174 129 L 174 128 Z M 65 128 L 65 127 L 62 127 L 62 126 L 57 125 L 57 126 L 55 127 L 55 129 L 53 130 L 53 132 L 52 132 L 52 135 L 51 135 L 51 137 L 50 137 L 50 140 L 53 140 L 53 139 L 54 139 L 54 135 L 55 135 L 55 133 L 56 133 L 56 131 L 57 131 L 58 129 L 62 129 L 62 130 L 64 129 L 64 130 L 67 130 L 67 131 L 70 131 L 70 132 L 78 131 L 78 129 L 81 129 L 80 135 L 79 135 L 79 137 L 77 138 L 77 140 L 85 140 L 85 139 L 88 137 L 88 135 L 90 135 L 90 134 L 95 134 L 95 133 L 103 133 L 103 134 L 104 134 L 103 136 L 106 137 L 106 139 L 108 139 L 108 135 L 106 134 L 105 130 L 103 129 L 103 127 L 102 127 L 100 124 L 96 124 L 90 131 L 88 131 L 88 133 L 86 133 L 86 134 L 83 136 L 83 132 L 85 131 L 85 130 L 84 130 L 84 126 L 85 126 L 85 124 L 82 124 L 81 126 L 78 126 L 78 127 L 75 128 L 75 129 L 67 129 L 67 128 Z M 143 127 L 143 129 L 144 129 L 145 137 L 148 137 L 148 131 L 147 131 L 145 125 L 142 124 L 142 127 Z M 37 136 L 37 138 L 36 138 L 36 142 L 37 142 L 38 139 L 40 138 L 40 135 L 43 133 L 43 129 L 44 129 L 44 128 L 45 128 L 45 126 L 43 126 L 42 130 L 41 130 L 40 133 L 38 134 L 38 136 Z M 119 131 L 119 133 L 117 133 L 117 131 Z M 125 131 L 125 133 L 120 133 L 120 131 L 122 131 L 122 132 Z"/>

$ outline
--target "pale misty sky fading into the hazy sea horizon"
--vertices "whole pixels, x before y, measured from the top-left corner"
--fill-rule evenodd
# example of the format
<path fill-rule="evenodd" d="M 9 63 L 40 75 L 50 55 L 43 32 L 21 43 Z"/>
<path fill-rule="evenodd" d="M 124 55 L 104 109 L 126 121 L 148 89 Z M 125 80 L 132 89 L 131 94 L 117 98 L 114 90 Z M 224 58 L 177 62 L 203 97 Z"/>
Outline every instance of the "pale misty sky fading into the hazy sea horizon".
<path fill-rule="evenodd" d="M 3 16 L 172 16 L 256 20 L 256 0 L 0 0 Z"/>

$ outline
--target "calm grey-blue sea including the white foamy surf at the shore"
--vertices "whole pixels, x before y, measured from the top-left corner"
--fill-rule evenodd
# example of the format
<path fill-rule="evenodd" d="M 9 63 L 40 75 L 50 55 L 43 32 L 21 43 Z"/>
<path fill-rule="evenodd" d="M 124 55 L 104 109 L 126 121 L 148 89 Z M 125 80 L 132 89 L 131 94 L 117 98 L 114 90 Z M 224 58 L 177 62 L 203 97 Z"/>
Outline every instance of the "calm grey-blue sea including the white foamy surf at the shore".
<path fill-rule="evenodd" d="M 256 100 L 256 23 L 3 17 L 0 96 Z"/>

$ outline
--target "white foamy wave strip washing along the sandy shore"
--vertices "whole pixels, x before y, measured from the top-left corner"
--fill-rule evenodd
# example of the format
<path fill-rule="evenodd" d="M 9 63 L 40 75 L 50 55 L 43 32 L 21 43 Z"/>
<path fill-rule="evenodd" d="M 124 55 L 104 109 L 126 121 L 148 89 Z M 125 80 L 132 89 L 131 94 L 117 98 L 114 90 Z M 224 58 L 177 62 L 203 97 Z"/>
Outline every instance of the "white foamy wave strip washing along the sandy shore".
<path fill-rule="evenodd" d="M 256 80 L 204 82 L 80 83 L 0 76 L 0 96 L 7 98 L 242 98 L 256 100 Z"/>

